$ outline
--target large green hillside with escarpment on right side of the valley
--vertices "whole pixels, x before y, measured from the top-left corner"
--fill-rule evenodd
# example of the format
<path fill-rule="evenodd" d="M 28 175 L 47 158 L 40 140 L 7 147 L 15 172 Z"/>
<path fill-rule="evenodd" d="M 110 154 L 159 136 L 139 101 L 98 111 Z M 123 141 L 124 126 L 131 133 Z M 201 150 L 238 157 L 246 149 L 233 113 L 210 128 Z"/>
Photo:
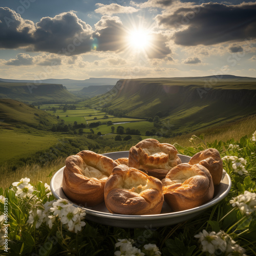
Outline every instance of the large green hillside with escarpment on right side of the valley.
<path fill-rule="evenodd" d="M 119 80 L 108 93 L 86 101 L 127 117 L 160 117 L 167 132 L 188 133 L 256 113 L 256 78 L 208 77 Z M 166 130 L 166 129 L 165 129 Z"/>

